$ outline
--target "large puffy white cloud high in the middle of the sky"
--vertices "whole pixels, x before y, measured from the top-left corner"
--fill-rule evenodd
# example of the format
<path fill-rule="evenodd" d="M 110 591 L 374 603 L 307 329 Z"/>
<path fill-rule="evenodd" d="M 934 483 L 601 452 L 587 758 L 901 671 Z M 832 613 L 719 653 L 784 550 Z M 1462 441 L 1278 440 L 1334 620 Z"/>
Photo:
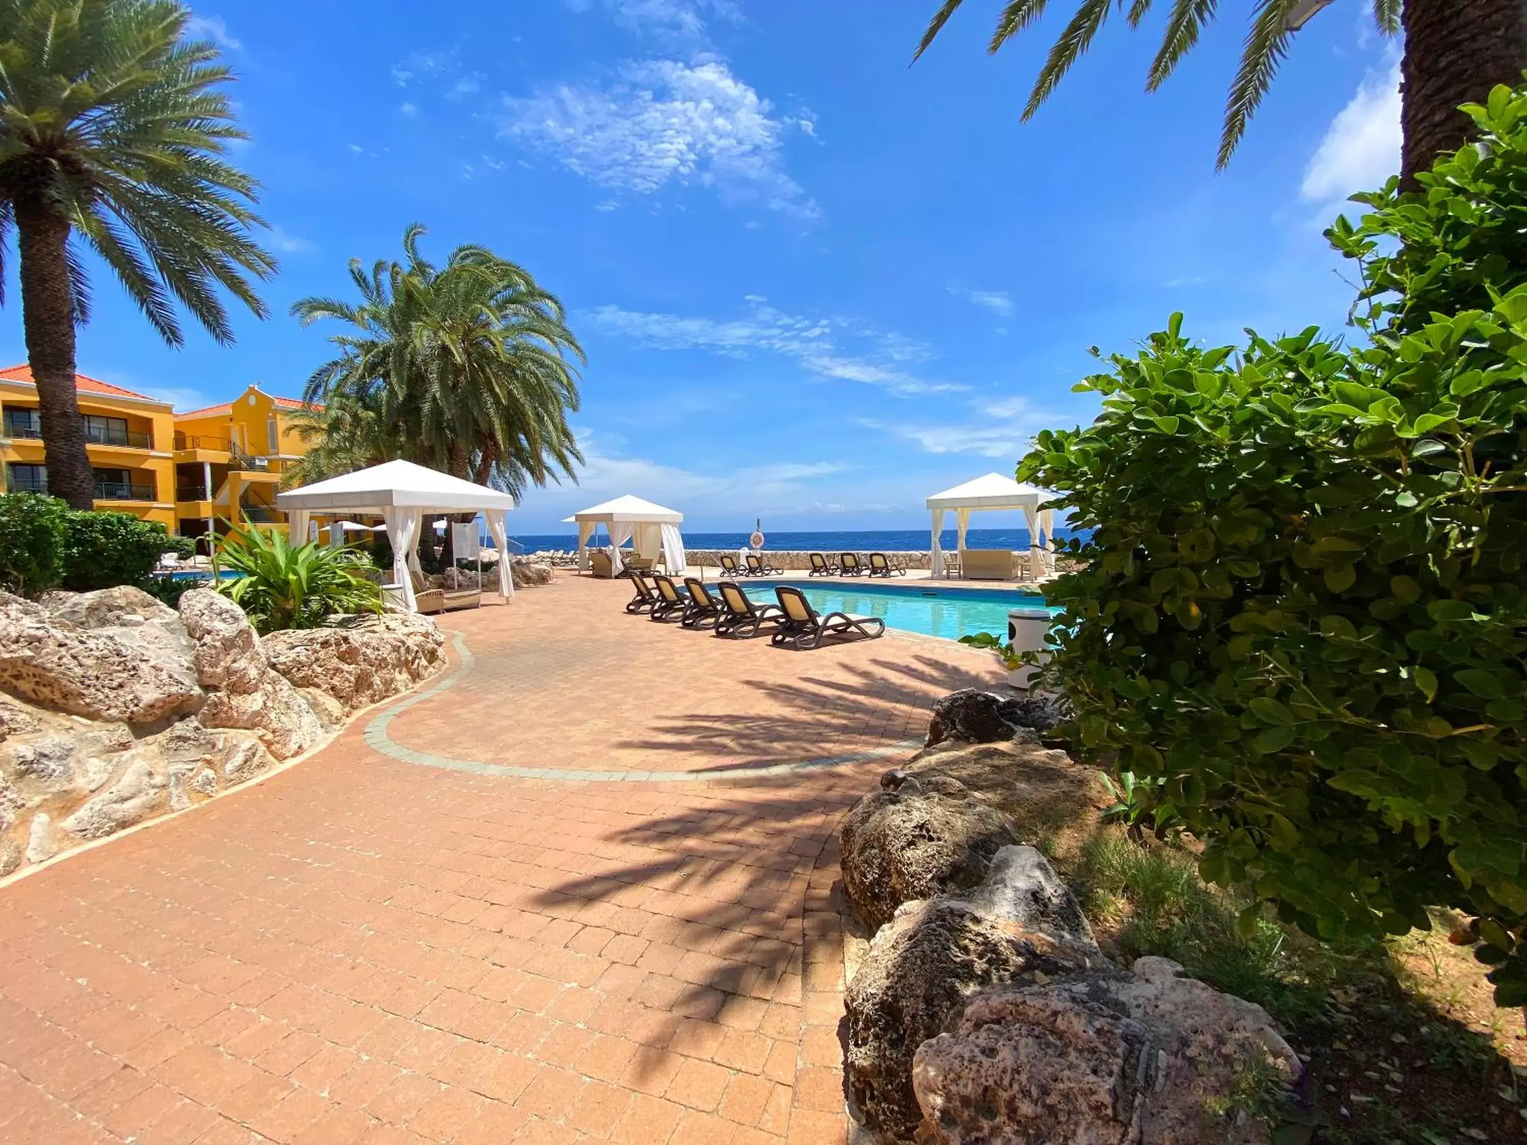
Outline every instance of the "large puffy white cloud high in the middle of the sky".
<path fill-rule="evenodd" d="M 608 87 L 560 84 L 505 107 L 504 136 L 597 186 L 647 195 L 695 183 L 728 206 L 818 214 L 785 173 L 782 121 L 719 60 L 628 63 Z"/>

